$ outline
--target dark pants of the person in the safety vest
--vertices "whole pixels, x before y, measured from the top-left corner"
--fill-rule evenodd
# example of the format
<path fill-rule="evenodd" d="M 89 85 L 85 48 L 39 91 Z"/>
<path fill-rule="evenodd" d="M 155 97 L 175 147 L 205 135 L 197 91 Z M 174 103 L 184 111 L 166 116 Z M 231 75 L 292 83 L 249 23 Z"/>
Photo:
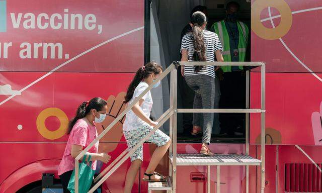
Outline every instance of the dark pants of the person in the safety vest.
<path fill-rule="evenodd" d="M 220 81 L 220 109 L 245 109 L 246 76 L 242 71 L 225 72 Z M 221 113 L 219 116 L 221 133 L 233 135 L 235 131 L 244 133 L 245 114 Z M 238 128 L 238 130 L 237 130 Z"/>

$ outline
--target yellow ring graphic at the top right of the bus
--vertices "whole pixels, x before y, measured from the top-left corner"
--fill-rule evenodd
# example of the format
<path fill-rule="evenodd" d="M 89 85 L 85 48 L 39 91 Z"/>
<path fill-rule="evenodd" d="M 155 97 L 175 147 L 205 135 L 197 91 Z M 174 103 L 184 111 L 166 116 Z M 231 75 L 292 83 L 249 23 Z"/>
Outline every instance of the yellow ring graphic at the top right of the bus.
<path fill-rule="evenodd" d="M 261 22 L 261 12 L 274 7 L 281 14 L 281 22 L 275 28 L 266 28 Z M 252 5 L 252 30 L 266 40 L 276 40 L 287 34 L 292 26 L 292 11 L 284 0 L 256 0 Z"/>

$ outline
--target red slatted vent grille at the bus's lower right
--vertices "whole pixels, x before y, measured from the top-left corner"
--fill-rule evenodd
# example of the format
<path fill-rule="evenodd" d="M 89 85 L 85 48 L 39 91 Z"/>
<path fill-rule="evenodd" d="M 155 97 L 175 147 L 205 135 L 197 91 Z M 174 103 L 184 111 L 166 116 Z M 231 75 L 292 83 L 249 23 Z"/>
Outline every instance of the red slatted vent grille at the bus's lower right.
<path fill-rule="evenodd" d="M 286 163 L 284 184 L 285 192 L 321 192 L 321 172 L 314 164 Z"/>

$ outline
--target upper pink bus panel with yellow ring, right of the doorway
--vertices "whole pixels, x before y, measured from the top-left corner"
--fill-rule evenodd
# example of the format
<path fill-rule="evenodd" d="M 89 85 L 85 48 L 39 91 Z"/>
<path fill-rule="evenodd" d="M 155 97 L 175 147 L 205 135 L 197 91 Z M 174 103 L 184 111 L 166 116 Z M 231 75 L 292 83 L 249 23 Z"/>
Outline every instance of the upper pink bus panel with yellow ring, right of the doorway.
<path fill-rule="evenodd" d="M 252 0 L 252 61 L 265 61 L 268 72 L 322 72 L 321 7 L 319 0 Z"/>

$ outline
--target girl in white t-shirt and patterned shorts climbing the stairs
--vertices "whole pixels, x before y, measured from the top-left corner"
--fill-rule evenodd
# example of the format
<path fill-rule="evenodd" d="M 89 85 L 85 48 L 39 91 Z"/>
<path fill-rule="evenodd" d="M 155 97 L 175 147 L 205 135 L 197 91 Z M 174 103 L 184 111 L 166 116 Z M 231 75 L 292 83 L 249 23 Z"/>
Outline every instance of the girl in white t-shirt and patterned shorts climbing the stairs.
<path fill-rule="evenodd" d="M 130 83 L 125 96 L 125 103 L 130 105 L 160 74 L 162 67 L 156 62 L 149 62 L 145 66 L 140 67 L 132 82 Z M 154 84 L 157 87 L 160 82 Z M 134 107 L 126 114 L 123 124 L 123 133 L 126 138 L 128 150 L 130 151 L 136 144 L 140 142 L 158 123 L 150 120 L 150 112 L 152 109 L 151 92 L 148 91 L 143 98 L 134 105 Z M 154 172 L 159 161 L 166 154 L 170 146 L 170 137 L 160 130 L 156 130 L 147 142 L 157 145 L 150 163 L 146 168 L 143 180 L 146 181 L 164 181 L 165 177 Z M 143 147 L 138 148 L 131 156 L 131 166 L 127 171 L 124 192 L 131 192 L 136 174 L 143 161 Z"/>

